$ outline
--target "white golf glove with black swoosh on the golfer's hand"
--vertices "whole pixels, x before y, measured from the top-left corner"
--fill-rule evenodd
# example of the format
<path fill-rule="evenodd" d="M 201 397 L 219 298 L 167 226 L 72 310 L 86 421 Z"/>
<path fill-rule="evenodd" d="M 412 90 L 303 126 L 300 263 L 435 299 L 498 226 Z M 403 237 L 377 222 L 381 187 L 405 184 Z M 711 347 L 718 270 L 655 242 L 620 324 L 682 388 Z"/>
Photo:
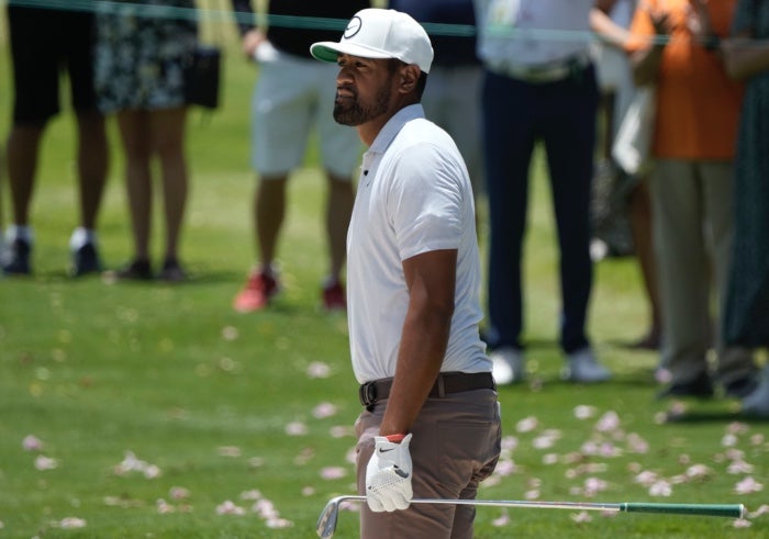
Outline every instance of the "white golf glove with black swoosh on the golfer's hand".
<path fill-rule="evenodd" d="M 376 436 L 374 454 L 366 468 L 366 502 L 375 513 L 405 509 L 414 496 L 411 490 L 411 453 L 408 435 L 400 443 Z"/>

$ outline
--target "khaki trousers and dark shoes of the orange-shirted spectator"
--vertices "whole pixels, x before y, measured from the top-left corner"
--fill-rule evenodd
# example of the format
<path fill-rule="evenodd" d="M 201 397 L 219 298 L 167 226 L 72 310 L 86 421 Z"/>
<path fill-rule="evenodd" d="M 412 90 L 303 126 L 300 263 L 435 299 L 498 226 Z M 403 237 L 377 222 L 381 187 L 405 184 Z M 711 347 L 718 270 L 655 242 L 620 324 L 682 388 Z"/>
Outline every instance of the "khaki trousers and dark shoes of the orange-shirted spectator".
<path fill-rule="evenodd" d="M 725 348 L 721 337 L 732 252 L 732 162 L 659 159 L 649 189 L 665 339 L 661 367 L 673 383 L 690 382 L 707 368 L 713 347 L 718 382 L 749 374 L 749 351 Z"/>

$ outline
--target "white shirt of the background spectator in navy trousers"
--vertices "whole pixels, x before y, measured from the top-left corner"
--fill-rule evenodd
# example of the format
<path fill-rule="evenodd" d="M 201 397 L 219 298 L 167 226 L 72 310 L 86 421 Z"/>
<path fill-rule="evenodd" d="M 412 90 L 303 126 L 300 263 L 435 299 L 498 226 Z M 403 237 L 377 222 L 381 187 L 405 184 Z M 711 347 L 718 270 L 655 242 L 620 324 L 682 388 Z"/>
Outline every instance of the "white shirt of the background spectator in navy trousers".
<path fill-rule="evenodd" d="M 542 66 L 587 53 L 594 0 L 473 0 L 482 60 Z"/>

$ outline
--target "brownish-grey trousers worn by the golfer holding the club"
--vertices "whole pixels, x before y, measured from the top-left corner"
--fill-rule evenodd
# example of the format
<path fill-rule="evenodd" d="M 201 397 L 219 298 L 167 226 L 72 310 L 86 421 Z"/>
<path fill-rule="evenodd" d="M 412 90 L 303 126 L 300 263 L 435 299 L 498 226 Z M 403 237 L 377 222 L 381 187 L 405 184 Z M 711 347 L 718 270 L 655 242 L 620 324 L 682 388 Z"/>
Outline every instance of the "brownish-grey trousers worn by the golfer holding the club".
<path fill-rule="evenodd" d="M 355 429 L 358 493 L 366 493 L 366 465 L 374 452 L 374 437 L 387 400 L 365 409 Z M 411 429 L 414 497 L 475 498 L 478 484 L 488 478 L 500 454 L 501 428 L 497 392 L 452 393 L 428 398 Z M 413 504 L 393 513 L 360 510 L 360 537 L 365 539 L 471 539 L 476 509 L 462 505 Z"/>

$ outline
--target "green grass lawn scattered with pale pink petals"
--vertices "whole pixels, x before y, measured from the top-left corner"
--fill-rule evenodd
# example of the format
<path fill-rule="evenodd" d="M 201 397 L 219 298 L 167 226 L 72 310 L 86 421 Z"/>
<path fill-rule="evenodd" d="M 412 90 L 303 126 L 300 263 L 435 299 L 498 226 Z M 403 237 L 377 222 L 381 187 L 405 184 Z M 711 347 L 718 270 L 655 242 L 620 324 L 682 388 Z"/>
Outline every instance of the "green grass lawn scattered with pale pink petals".
<path fill-rule="evenodd" d="M 51 125 L 33 207 L 35 277 L 0 280 L 0 539 L 309 538 L 326 501 L 353 492 L 347 454 L 359 406 L 346 319 L 317 311 L 325 271 L 324 189 L 313 151 L 291 182 L 280 252 L 285 293 L 263 313 L 243 316 L 231 308 L 253 263 L 248 103 L 256 74 L 232 40 L 225 45 L 223 108 L 210 117 L 193 113 L 189 128 L 193 177 L 182 254 L 193 272 L 190 283 L 110 285 L 99 278 L 65 277 L 77 211 L 71 116 L 63 114 Z M 4 42 L 1 53 L 0 88 L 8 89 Z M 9 93 L 3 91 L 0 101 L 3 128 Z M 111 134 L 113 160 L 100 229 L 105 260 L 116 267 L 131 250 L 113 125 Z M 557 250 L 540 158 L 535 167 L 525 256 L 532 383 L 500 392 L 504 435 L 516 443 L 480 497 L 523 499 L 538 491 L 538 499 L 745 503 L 758 509 L 766 490 L 737 494 L 735 485 L 769 475 L 766 424 L 742 422 L 736 403 L 726 401 L 692 405 L 680 423 L 657 423 L 668 406 L 654 398 L 657 358 L 622 346 L 643 333 L 647 319 L 633 260 L 597 268 L 590 330 L 615 380 L 587 388 L 559 381 Z M 7 199 L 3 204 L 8 220 Z M 155 248 L 159 251 L 159 242 Z M 327 366 L 326 378 L 309 375 L 319 363 Z M 336 413 L 315 417 L 323 403 Z M 576 418 L 579 405 L 593 406 L 594 415 Z M 609 412 L 616 413 L 620 426 L 597 430 Z M 527 417 L 537 424 L 522 431 L 519 424 Z M 290 435 L 290 425 L 305 431 Z M 754 468 L 733 474 L 734 452 L 724 439 L 736 427 L 731 449 L 743 451 Z M 557 437 L 551 447 L 540 448 L 548 431 Z M 647 443 L 646 450 L 634 452 L 632 434 Z M 27 435 L 44 447 L 23 449 Z M 589 454 L 587 441 L 612 442 L 618 454 Z M 159 476 L 118 473 L 127 451 L 156 465 Z M 55 459 L 56 468 L 37 470 L 41 456 Z M 696 463 L 710 473 L 675 482 Z M 321 472 L 330 467 L 346 474 L 324 479 Z M 649 494 L 635 481 L 640 470 L 672 483 L 672 494 Z M 589 496 L 588 479 L 604 481 L 605 490 Z M 189 496 L 172 498 L 172 487 L 186 489 Z M 293 526 L 268 528 L 250 509 L 253 502 L 241 497 L 253 490 Z M 175 510 L 159 512 L 158 499 Z M 246 514 L 218 515 L 216 507 L 227 499 Z M 510 521 L 494 524 L 505 513 Z M 591 516 L 592 521 L 576 523 L 568 510 L 480 508 L 477 537 L 742 539 L 769 534 L 766 516 L 744 529 L 720 518 Z M 67 517 L 85 519 L 87 526 L 63 529 Z M 357 537 L 357 529 L 356 515 L 342 513 L 337 537 Z"/>

